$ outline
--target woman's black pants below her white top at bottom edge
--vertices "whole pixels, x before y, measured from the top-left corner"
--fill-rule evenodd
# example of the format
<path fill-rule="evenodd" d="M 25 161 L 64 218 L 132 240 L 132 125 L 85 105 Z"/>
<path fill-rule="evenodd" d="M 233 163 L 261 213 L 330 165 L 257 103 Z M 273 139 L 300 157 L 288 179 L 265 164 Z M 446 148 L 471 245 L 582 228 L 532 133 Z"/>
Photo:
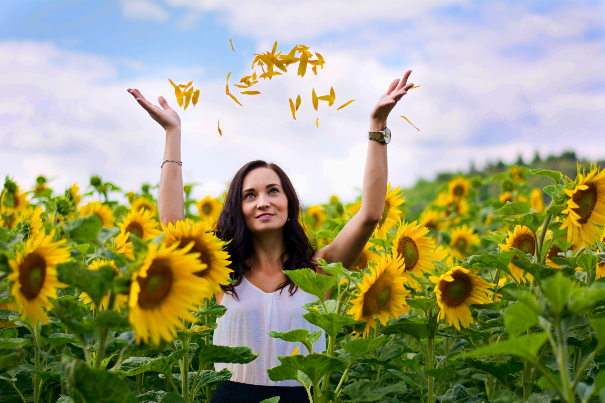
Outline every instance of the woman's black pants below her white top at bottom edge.
<path fill-rule="evenodd" d="M 217 385 L 209 403 L 259 403 L 273 396 L 280 396 L 280 403 L 309 402 L 307 391 L 302 386 L 264 386 L 224 381 Z"/>

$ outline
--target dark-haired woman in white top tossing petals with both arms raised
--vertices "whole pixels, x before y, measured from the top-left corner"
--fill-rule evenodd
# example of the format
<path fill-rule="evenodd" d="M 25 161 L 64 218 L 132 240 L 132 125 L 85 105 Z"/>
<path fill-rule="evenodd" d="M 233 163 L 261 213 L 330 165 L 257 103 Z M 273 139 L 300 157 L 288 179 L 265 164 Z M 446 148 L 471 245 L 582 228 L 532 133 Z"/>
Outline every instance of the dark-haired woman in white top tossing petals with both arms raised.
<path fill-rule="evenodd" d="M 307 323 L 301 305 L 316 297 L 298 289 L 284 269 L 317 267 L 318 259 L 328 263 L 342 262 L 350 267 L 358 259 L 384 210 L 387 192 L 387 145 L 390 131 L 385 132 L 387 117 L 397 101 L 414 86 L 407 80 L 391 82 L 370 113 L 368 152 L 365 161 L 362 204 L 358 213 L 342 228 L 333 242 L 316 250 L 298 222 L 299 201 L 284 173 L 274 164 L 252 161 L 234 176 L 218 218 L 217 235 L 232 240 L 226 247 L 231 255 L 234 284 L 223 286 L 217 303 L 227 307 L 218 319 L 214 343 L 227 346 L 249 346 L 259 352 L 249 364 L 215 364 L 215 369 L 228 368 L 231 381 L 217 386 L 211 403 L 260 402 L 281 396 L 280 402 L 306 402 L 307 394 L 296 381 L 274 382 L 267 368 L 279 365 L 278 355 L 289 355 L 296 343 L 271 338 L 267 332 L 319 327 Z M 180 118 L 163 97 L 162 108 L 152 105 L 137 89 L 128 89 L 137 102 L 166 130 L 166 149 L 159 188 L 160 219 L 165 224 L 185 219 L 183 178 L 181 173 Z M 376 140 L 376 141 L 374 141 Z M 282 292 L 288 287 L 287 292 Z M 326 292 L 326 298 L 330 295 Z M 308 353 L 299 344 L 300 353 Z M 325 350 L 325 337 L 313 345 L 313 352 Z M 297 386 L 298 385 L 298 386 Z"/>

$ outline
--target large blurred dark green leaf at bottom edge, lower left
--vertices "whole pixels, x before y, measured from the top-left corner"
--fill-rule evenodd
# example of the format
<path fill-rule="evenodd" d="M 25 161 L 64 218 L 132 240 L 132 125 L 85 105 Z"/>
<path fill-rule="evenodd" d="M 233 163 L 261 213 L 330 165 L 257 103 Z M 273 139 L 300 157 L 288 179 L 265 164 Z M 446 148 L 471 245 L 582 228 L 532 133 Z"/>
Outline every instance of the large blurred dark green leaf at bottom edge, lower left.
<path fill-rule="evenodd" d="M 94 370 L 79 359 L 65 361 L 63 372 L 75 403 L 137 403 L 130 388 L 114 373 Z"/>

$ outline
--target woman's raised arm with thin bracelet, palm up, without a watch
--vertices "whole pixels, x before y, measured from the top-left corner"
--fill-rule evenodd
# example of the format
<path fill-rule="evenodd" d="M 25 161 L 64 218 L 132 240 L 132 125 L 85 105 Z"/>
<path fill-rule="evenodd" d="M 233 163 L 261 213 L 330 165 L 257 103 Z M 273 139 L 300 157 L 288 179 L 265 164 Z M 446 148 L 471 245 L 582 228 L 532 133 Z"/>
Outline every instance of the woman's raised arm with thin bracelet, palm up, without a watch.
<path fill-rule="evenodd" d="M 164 97 L 157 98 L 160 105 L 162 105 L 162 109 L 146 100 L 138 89 L 128 88 L 127 91 L 136 98 L 139 105 L 149 113 L 149 116 L 154 118 L 166 131 L 166 148 L 162 161 L 181 161 L 181 119 L 177 112 L 168 106 Z M 162 164 L 162 161 L 158 161 L 158 164 Z M 164 224 L 185 219 L 183 172 L 180 164 L 169 161 L 162 166 L 158 211 L 160 221 Z"/>

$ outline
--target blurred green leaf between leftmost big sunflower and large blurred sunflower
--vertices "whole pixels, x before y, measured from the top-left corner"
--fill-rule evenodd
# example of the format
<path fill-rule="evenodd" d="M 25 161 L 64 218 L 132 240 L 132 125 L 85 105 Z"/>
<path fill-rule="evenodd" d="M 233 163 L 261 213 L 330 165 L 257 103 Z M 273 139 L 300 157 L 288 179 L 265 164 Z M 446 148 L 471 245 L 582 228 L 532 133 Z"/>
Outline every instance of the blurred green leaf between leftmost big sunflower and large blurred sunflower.
<path fill-rule="evenodd" d="M 98 270 L 89 270 L 79 261 L 57 265 L 59 281 L 80 288 L 92 298 L 97 306 L 101 305 L 103 296 L 113 284 L 114 276 L 116 276 L 116 272 L 109 265 L 101 266 Z"/>

